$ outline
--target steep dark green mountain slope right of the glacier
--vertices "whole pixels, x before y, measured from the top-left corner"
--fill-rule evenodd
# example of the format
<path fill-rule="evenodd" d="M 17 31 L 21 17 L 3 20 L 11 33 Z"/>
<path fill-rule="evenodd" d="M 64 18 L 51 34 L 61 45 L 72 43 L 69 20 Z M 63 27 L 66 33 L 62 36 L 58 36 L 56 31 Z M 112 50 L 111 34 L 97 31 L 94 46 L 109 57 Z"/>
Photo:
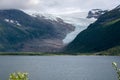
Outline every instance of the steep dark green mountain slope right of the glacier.
<path fill-rule="evenodd" d="M 101 15 L 66 47 L 66 52 L 88 53 L 104 51 L 120 44 L 120 9 Z"/>

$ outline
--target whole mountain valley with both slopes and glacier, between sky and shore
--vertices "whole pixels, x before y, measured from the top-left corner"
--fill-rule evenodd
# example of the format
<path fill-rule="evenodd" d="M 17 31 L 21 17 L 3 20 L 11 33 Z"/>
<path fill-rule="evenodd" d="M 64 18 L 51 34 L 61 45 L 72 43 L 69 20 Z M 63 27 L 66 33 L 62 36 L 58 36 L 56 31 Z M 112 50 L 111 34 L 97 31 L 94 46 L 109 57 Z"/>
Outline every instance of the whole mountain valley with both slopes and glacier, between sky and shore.
<path fill-rule="evenodd" d="M 0 51 L 119 55 L 119 9 L 59 15 L 0 10 Z"/>

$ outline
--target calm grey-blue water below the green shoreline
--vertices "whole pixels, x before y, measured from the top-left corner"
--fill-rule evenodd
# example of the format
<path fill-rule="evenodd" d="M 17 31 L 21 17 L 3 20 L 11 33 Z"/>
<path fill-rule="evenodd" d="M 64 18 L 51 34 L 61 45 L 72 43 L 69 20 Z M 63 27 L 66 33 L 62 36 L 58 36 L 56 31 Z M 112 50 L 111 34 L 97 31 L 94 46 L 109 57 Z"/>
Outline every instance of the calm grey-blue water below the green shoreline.
<path fill-rule="evenodd" d="M 117 56 L 0 56 L 0 80 L 28 72 L 30 80 L 117 80 Z"/>

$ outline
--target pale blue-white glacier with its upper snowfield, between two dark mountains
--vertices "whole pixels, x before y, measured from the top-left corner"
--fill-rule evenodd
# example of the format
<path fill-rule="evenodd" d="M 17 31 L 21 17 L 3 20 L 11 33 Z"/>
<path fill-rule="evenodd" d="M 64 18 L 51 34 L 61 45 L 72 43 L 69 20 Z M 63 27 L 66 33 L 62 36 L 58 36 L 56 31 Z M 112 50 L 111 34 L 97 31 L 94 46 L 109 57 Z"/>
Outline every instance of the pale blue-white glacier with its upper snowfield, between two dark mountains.
<path fill-rule="evenodd" d="M 64 44 L 68 44 L 75 39 L 75 37 L 83 30 L 85 30 L 91 23 L 95 22 L 96 19 L 86 18 L 88 12 L 74 12 L 67 14 L 48 14 L 48 13 L 29 13 L 31 16 L 36 15 L 44 16 L 45 19 L 50 19 L 52 21 L 57 21 L 57 18 L 61 18 L 64 22 L 72 24 L 75 26 L 75 30 L 68 33 L 66 37 L 62 40 Z"/>

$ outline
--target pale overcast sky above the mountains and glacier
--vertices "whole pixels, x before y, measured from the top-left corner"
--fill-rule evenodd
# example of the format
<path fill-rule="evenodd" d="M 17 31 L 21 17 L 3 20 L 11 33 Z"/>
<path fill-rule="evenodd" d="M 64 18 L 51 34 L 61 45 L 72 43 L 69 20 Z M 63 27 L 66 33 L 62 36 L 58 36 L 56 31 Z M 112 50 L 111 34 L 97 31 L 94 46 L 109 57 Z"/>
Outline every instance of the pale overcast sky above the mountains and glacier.
<path fill-rule="evenodd" d="M 45 13 L 72 13 L 90 9 L 112 9 L 120 0 L 0 0 L 0 9 L 22 9 Z"/>

